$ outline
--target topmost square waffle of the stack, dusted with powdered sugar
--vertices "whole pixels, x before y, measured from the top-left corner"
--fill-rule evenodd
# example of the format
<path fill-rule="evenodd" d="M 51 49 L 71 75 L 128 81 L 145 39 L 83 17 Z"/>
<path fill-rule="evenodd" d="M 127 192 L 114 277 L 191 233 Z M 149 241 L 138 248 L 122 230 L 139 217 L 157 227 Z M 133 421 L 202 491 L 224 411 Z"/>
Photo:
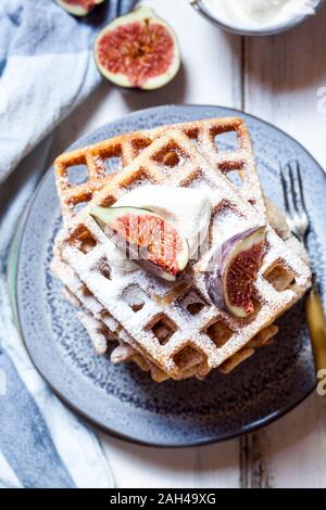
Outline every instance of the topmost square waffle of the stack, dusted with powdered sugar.
<path fill-rule="evenodd" d="M 137 352 L 146 359 L 168 377 L 180 379 L 188 369 L 184 360 L 197 358 L 200 359 L 197 375 L 204 377 L 244 348 L 243 355 L 250 340 L 305 292 L 311 273 L 267 225 L 268 250 L 255 284 L 258 306 L 248 320 L 230 317 L 210 303 L 203 284 L 203 259 L 190 264 L 177 285 L 161 282 L 142 270 L 115 278 L 105 262 L 106 238 L 88 213 L 93 205 L 111 206 L 133 188 L 147 183 L 206 191 L 214 204 L 211 253 L 216 243 L 225 239 L 226 232 L 230 237 L 262 224 L 261 216 L 241 199 L 229 180 L 212 169 L 187 136 L 174 129 L 152 142 L 125 170 L 110 179 L 79 213 L 61 243 L 62 257 L 110 316 L 133 336 Z M 128 304 L 133 288 L 143 297 L 142 308 L 137 313 Z M 189 298 L 197 299 L 199 305 L 195 315 L 189 311 Z M 162 329 L 167 331 L 163 341 L 156 336 Z"/>

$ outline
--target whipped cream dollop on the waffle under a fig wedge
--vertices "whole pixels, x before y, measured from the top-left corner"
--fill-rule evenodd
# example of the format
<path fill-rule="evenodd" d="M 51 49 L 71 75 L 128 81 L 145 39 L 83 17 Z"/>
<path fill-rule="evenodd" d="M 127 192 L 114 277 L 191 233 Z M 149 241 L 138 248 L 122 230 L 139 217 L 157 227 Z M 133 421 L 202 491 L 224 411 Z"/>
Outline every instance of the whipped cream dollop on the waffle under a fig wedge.
<path fill-rule="evenodd" d="M 202 190 L 148 184 L 126 193 L 113 207 L 140 207 L 162 216 L 186 238 L 190 258 L 196 258 L 208 237 L 212 204 Z M 123 271 L 139 269 L 109 239 L 105 252 L 112 266 Z"/>

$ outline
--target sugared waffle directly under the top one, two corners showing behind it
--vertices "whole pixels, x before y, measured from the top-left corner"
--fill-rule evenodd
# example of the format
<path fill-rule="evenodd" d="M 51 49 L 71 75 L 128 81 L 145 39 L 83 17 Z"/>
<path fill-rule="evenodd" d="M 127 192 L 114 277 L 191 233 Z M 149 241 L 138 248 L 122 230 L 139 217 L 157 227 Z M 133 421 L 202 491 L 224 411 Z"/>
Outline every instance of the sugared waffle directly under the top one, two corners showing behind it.
<path fill-rule="evenodd" d="M 153 140 L 172 128 L 180 129 L 192 143 L 196 143 L 210 163 L 237 182 L 237 186 L 240 186 L 241 181 L 240 192 L 243 199 L 254 205 L 259 213 L 265 215 L 265 203 L 249 131 L 241 118 L 227 117 L 125 133 L 59 156 L 54 167 L 64 222 L 67 224 L 80 211 L 80 207 L 95 196 L 110 180 L 111 173 L 125 168 Z M 220 144 L 218 140 L 222 140 L 226 133 L 234 135 L 236 144 Z M 230 150 L 223 150 L 223 148 Z M 166 164 L 173 166 L 173 155 L 166 154 L 165 156 Z M 74 181 L 70 175 L 75 170 Z"/>

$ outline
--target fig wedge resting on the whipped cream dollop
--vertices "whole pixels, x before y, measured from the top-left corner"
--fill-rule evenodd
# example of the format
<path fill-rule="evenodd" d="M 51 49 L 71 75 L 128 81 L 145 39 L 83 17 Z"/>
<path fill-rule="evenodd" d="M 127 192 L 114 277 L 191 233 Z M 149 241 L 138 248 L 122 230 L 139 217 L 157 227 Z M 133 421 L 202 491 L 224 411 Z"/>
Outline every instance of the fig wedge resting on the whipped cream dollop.
<path fill-rule="evenodd" d="M 126 257 L 153 275 L 175 281 L 187 266 L 187 240 L 151 211 L 99 206 L 90 215 Z"/>

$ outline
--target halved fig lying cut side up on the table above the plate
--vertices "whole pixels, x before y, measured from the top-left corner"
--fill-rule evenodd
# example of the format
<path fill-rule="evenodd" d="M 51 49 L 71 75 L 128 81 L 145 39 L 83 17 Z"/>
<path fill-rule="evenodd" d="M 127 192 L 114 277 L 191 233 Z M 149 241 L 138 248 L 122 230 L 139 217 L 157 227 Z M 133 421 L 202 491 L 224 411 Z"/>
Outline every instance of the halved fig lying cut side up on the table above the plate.
<path fill-rule="evenodd" d="M 110 23 L 95 44 L 102 75 L 120 87 L 154 90 L 180 67 L 174 30 L 152 9 L 141 7 Z"/>

